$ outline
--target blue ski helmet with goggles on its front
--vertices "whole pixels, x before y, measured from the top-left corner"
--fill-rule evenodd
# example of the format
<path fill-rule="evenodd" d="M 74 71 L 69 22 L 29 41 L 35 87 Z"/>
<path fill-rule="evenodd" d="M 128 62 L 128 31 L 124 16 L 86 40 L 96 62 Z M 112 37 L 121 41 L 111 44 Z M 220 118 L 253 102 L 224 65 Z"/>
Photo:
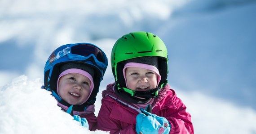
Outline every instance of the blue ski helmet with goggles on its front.
<path fill-rule="evenodd" d="M 44 88 L 51 91 L 60 103 L 69 107 L 69 104 L 57 94 L 58 76 L 68 68 L 79 68 L 88 71 L 91 75 L 93 74 L 93 92 L 84 104 L 74 105 L 75 111 L 84 111 L 88 105 L 95 103 L 107 65 L 106 54 L 94 44 L 76 43 L 60 46 L 53 51 L 45 63 Z"/>

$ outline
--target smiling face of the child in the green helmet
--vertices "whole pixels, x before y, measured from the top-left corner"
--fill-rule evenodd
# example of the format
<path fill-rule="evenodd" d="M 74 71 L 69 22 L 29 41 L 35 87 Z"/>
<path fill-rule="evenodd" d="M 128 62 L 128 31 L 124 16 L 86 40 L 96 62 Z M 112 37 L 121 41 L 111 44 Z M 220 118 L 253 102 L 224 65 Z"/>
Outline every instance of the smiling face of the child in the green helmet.
<path fill-rule="evenodd" d="M 145 68 L 127 67 L 125 76 L 127 88 L 134 91 L 147 91 L 157 86 L 157 74 Z"/>

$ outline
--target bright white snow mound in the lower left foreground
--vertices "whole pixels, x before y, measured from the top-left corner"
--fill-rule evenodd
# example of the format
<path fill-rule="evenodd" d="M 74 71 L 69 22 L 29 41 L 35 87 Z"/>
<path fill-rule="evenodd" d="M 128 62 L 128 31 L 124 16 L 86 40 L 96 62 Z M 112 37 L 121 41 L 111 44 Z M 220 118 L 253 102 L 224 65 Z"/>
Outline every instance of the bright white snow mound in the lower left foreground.
<path fill-rule="evenodd" d="M 40 85 L 40 79 L 21 75 L 1 88 L 0 134 L 108 134 L 79 126 Z"/>

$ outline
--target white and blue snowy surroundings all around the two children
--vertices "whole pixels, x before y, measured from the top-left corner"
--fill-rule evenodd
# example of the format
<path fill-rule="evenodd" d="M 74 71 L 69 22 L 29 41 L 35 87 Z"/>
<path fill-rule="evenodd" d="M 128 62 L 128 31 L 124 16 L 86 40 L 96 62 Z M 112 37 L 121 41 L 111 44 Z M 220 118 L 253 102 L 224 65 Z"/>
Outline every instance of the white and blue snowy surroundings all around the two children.
<path fill-rule="evenodd" d="M 256 134 L 256 0 L 0 0 L 0 134 L 84 134 L 40 89 L 58 46 L 148 31 L 168 48 L 168 80 L 195 134 Z M 97 96 L 114 82 L 107 68 Z"/>

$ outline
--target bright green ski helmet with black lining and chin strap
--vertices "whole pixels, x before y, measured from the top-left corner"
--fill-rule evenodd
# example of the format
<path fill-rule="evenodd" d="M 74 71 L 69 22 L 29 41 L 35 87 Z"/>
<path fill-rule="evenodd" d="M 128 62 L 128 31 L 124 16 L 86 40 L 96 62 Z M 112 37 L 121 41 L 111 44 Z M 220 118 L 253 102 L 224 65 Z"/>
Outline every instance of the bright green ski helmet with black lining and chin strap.
<path fill-rule="evenodd" d="M 123 75 L 125 63 L 139 61 L 138 63 L 150 64 L 150 59 L 153 57 L 157 57 L 156 67 L 161 75 L 161 80 L 157 89 L 152 89 L 150 92 L 133 91 L 128 89 Z M 123 94 L 121 96 L 124 96 L 125 94 L 125 97 L 133 99 L 135 99 L 134 96 L 147 99 L 151 97 L 158 97 L 159 90 L 168 83 L 167 48 L 158 36 L 149 32 L 132 32 L 119 38 L 112 48 L 111 67 L 115 77 L 117 90 L 119 93 Z"/>

